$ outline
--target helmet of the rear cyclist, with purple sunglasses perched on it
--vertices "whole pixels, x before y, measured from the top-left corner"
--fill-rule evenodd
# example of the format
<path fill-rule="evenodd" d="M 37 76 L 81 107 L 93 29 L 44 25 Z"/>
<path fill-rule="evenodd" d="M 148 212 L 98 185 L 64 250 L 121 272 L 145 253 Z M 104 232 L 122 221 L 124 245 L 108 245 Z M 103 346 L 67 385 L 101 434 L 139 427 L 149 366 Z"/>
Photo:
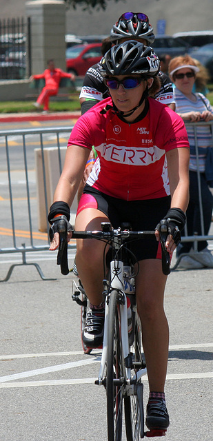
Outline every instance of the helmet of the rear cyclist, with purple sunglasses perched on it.
<path fill-rule="evenodd" d="M 112 42 L 123 38 L 145 39 L 151 45 L 154 33 L 148 16 L 142 12 L 124 12 L 110 31 Z"/>

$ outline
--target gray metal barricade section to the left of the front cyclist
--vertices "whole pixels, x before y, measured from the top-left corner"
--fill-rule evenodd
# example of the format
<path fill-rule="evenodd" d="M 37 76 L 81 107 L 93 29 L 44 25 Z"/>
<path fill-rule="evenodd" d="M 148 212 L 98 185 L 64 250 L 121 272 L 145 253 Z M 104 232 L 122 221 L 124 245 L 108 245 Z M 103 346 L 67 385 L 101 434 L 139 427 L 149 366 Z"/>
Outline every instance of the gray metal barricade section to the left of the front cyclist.
<path fill-rule="evenodd" d="M 45 146 L 50 143 L 55 146 L 57 156 L 54 156 L 54 159 L 57 161 L 59 174 L 61 174 L 63 168 L 61 150 L 65 149 L 71 130 L 72 127 L 50 127 L 0 131 L 0 203 L 1 225 L 3 225 L 0 227 L 0 254 L 21 253 L 22 255 L 22 263 L 12 265 L 6 278 L 0 282 L 8 280 L 13 268 L 17 265 L 34 265 L 41 278 L 49 280 L 45 278 L 37 263 L 26 262 L 26 254 L 49 249 L 47 215 L 50 203 L 48 205 L 48 172 L 45 164 L 45 150 L 49 150 L 49 147 Z M 34 147 L 37 146 L 41 151 L 41 167 L 36 180 Z M 36 189 L 36 185 L 38 187 L 41 183 L 46 232 L 39 232 L 39 214 L 37 213 L 38 188 Z M 23 238 L 25 238 L 25 243 L 23 243 Z M 68 247 L 74 248 L 75 245 L 69 244 Z"/>

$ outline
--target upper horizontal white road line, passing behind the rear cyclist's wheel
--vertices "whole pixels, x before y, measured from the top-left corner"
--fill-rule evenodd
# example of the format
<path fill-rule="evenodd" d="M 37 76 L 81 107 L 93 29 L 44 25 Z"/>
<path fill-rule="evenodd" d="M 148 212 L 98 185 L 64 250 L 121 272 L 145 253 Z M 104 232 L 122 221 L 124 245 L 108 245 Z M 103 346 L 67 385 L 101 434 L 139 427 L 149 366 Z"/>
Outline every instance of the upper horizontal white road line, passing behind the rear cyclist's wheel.
<path fill-rule="evenodd" d="M 213 343 L 196 343 L 192 345 L 170 345 L 170 351 L 172 349 L 193 349 L 193 348 L 205 348 L 213 347 Z M 92 349 L 92 353 L 100 353 L 100 349 Z M 69 351 L 69 352 L 44 352 L 44 353 L 18 353 L 11 355 L 0 356 L 0 360 L 11 360 L 12 358 L 35 358 L 35 357 L 63 357 L 63 356 L 82 356 L 83 351 Z"/>

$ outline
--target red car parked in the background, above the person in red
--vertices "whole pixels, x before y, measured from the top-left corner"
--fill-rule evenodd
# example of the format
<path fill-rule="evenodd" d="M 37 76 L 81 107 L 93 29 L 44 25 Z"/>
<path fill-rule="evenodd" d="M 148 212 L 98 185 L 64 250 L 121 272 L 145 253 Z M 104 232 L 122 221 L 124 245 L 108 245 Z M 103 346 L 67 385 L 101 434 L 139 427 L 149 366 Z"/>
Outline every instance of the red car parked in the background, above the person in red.
<path fill-rule="evenodd" d="M 74 45 L 65 52 L 67 70 L 75 75 L 84 76 L 101 57 L 101 43 Z"/>

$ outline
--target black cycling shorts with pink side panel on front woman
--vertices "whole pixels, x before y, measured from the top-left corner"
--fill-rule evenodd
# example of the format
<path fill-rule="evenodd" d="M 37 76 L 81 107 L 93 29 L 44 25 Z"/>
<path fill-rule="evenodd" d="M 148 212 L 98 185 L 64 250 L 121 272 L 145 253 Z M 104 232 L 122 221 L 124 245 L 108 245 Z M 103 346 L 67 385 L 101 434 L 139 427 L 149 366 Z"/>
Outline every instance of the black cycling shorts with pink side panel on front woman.
<path fill-rule="evenodd" d="M 121 227 L 121 223 L 130 223 L 132 231 L 154 230 L 167 214 L 170 201 L 170 196 L 143 201 L 124 201 L 85 185 L 77 214 L 83 209 L 95 208 L 108 216 L 114 228 Z M 161 247 L 155 236 L 134 240 L 130 248 L 137 260 L 161 258 Z"/>

